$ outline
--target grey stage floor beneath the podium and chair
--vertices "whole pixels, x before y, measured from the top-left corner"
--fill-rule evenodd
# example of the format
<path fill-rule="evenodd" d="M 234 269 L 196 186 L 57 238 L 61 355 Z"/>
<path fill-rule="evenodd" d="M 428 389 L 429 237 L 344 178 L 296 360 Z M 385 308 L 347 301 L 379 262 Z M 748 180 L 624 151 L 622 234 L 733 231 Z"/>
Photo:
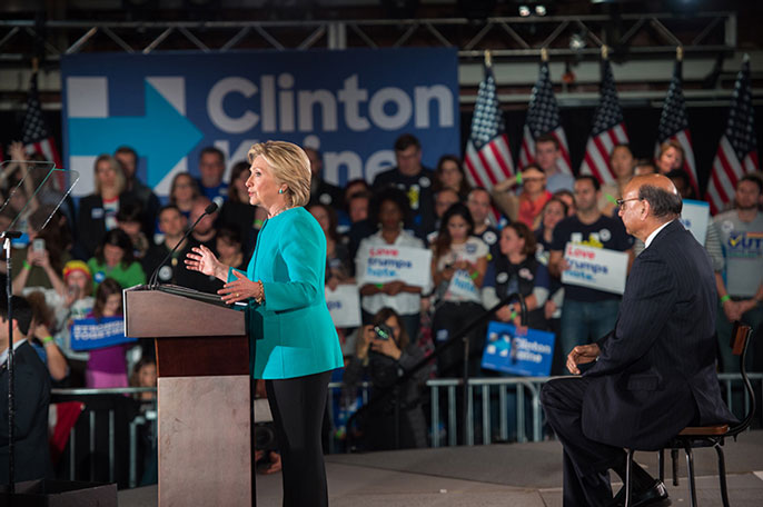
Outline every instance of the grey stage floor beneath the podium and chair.
<path fill-rule="evenodd" d="M 740 436 L 725 446 L 729 496 L 734 507 L 757 507 L 763 498 L 763 431 Z M 670 458 L 670 455 L 666 456 Z M 636 460 L 657 475 L 654 453 Z M 721 506 L 713 449 L 694 453 L 697 497 L 702 507 Z M 667 489 L 672 504 L 690 505 L 686 460 L 681 453 L 680 486 Z M 554 507 L 562 505 L 562 447 L 556 441 L 477 447 L 399 450 L 326 457 L 334 507 Z M 615 484 L 616 489 L 620 485 Z M 120 507 L 153 507 L 157 488 L 119 491 Z M 257 506 L 280 507 L 280 474 L 257 476 Z"/>

